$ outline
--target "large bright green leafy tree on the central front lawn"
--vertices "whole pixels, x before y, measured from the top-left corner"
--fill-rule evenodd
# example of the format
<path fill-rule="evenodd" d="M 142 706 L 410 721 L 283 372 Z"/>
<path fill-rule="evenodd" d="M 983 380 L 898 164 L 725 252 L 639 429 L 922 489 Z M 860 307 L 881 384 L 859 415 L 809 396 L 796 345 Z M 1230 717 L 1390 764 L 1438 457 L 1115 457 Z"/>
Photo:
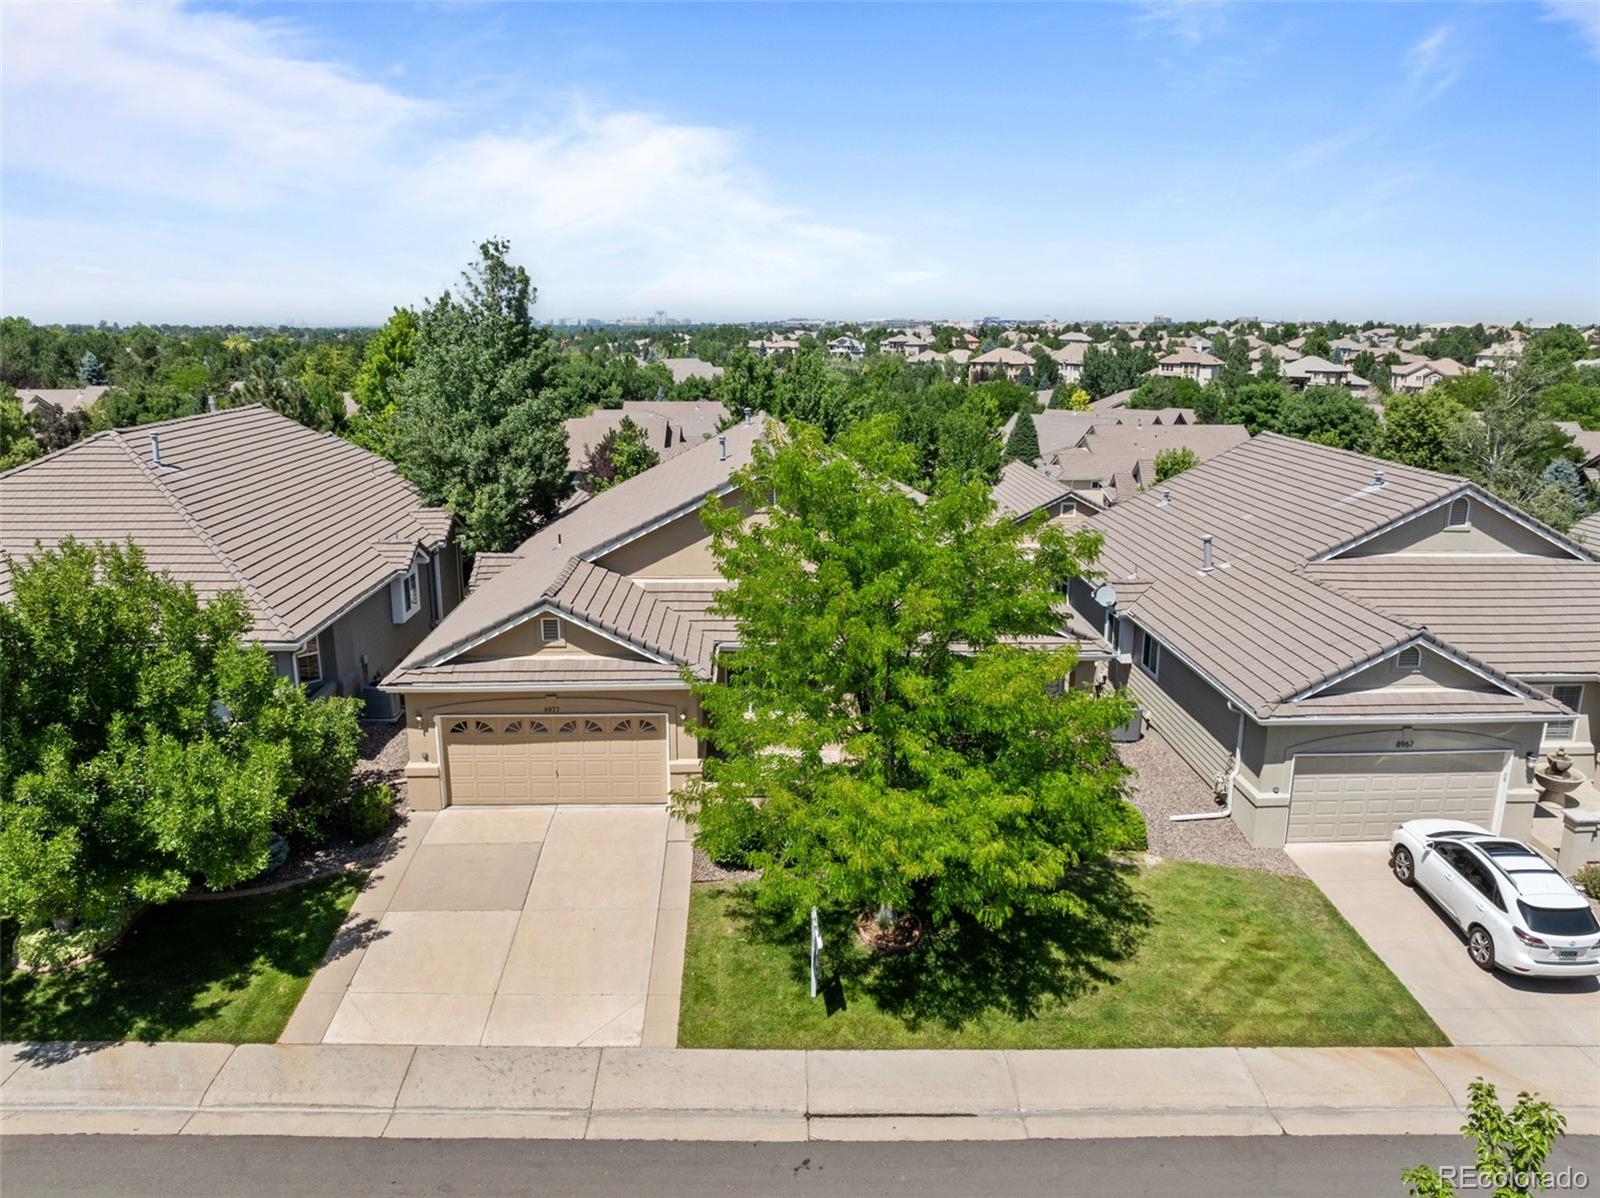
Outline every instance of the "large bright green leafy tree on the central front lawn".
<path fill-rule="evenodd" d="M 1062 880 L 1107 846 L 1125 771 L 1120 697 L 1059 689 L 1074 651 L 1058 584 L 1091 533 L 997 520 L 979 481 L 918 504 L 814 430 L 776 429 L 736 475 L 758 505 L 707 504 L 736 621 L 723 681 L 696 681 L 704 781 L 680 797 L 714 854 L 760 870 L 755 899 L 909 908 L 998 928 L 1074 910 Z"/>

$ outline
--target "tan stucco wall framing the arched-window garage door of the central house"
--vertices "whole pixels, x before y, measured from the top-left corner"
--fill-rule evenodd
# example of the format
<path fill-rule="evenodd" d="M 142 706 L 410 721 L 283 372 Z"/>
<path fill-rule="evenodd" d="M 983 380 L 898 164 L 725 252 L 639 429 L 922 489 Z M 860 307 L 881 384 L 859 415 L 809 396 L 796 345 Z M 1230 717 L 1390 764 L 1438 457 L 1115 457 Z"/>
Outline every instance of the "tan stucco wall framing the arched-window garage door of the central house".
<path fill-rule="evenodd" d="M 411 693 L 406 702 L 406 797 L 416 811 L 438 811 L 448 803 L 440 781 L 442 737 L 438 721 L 462 713 L 478 715 L 584 715 L 638 712 L 667 718 L 667 761 L 672 785 L 701 771 L 701 744 L 685 725 L 699 718 L 699 702 L 688 689 L 640 691 L 506 691 L 494 694 Z"/>

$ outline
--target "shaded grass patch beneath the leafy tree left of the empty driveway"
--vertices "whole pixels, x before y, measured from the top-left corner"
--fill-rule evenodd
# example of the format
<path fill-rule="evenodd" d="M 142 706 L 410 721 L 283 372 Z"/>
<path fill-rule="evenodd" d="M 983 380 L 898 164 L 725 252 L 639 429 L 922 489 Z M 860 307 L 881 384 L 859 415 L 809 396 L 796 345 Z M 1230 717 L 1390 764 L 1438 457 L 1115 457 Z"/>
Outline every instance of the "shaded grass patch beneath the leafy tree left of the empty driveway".
<path fill-rule="evenodd" d="M 0 984 L 5 1040 L 270 1043 L 360 889 L 360 875 L 146 912 L 98 961 Z"/>

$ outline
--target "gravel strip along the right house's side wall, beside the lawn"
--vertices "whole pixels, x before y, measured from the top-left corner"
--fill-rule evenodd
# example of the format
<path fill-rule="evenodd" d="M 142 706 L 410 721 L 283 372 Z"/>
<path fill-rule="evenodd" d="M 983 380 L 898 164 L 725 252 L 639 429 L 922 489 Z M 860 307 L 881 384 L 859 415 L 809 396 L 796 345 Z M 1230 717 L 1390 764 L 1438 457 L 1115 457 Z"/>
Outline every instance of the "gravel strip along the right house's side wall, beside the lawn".
<path fill-rule="evenodd" d="M 1155 733 L 1117 747 L 1122 760 L 1136 771 L 1128 798 L 1144 813 L 1150 853 L 1173 861 L 1200 861 L 1208 865 L 1238 865 L 1270 873 L 1304 877 L 1283 849 L 1258 849 L 1232 819 L 1198 819 L 1174 824 L 1171 816 L 1190 811 L 1221 811 L 1211 787 L 1200 781 L 1182 758 Z"/>

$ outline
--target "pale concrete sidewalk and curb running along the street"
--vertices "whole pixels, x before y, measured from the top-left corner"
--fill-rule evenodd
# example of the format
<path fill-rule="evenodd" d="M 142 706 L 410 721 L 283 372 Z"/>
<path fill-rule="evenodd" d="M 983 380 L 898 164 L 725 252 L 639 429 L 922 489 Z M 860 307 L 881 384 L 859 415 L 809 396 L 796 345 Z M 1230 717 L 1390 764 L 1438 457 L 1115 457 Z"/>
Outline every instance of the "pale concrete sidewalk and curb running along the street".
<path fill-rule="evenodd" d="M 1600 1051 L 800 1052 L 6 1044 L 0 1132 L 669 1140 L 1454 1134 L 1467 1083 L 1600 1134 Z"/>

